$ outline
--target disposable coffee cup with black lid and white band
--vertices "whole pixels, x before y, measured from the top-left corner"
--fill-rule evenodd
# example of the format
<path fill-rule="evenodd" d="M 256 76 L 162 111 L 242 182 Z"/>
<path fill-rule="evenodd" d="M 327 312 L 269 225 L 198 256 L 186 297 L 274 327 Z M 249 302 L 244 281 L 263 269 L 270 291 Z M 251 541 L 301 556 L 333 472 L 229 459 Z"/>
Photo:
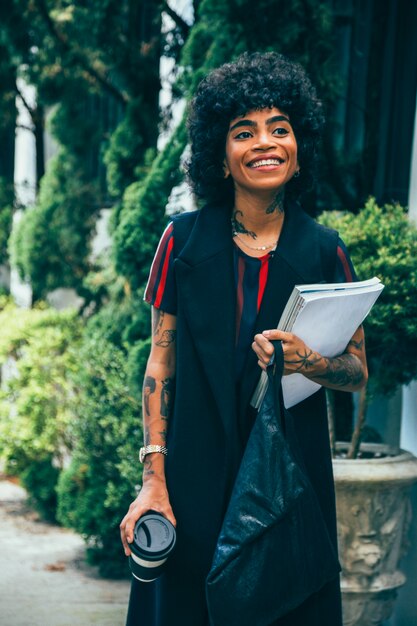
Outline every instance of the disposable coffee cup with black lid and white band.
<path fill-rule="evenodd" d="M 175 528 L 156 511 L 138 519 L 130 544 L 129 566 L 132 575 L 142 582 L 156 580 L 175 546 Z"/>

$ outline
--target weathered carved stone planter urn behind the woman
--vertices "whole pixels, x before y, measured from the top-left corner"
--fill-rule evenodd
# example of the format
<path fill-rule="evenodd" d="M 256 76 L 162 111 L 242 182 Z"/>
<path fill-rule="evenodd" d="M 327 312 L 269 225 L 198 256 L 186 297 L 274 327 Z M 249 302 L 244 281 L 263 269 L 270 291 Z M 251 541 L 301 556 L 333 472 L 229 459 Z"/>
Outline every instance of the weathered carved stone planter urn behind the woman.
<path fill-rule="evenodd" d="M 417 481 L 410 452 L 382 444 L 361 450 L 390 456 L 333 461 L 344 626 L 378 626 L 391 616 L 405 583 L 398 563 L 408 549 L 409 494 Z"/>

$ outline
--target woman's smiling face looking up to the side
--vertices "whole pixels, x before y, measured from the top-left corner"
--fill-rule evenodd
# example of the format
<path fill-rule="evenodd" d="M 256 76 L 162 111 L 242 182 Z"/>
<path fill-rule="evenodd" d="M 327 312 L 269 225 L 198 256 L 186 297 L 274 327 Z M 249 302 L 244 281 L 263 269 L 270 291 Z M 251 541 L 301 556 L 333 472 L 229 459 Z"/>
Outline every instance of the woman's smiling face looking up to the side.
<path fill-rule="evenodd" d="M 276 194 L 299 170 L 290 120 L 275 107 L 232 120 L 225 153 L 225 176 L 233 178 L 235 193 Z"/>

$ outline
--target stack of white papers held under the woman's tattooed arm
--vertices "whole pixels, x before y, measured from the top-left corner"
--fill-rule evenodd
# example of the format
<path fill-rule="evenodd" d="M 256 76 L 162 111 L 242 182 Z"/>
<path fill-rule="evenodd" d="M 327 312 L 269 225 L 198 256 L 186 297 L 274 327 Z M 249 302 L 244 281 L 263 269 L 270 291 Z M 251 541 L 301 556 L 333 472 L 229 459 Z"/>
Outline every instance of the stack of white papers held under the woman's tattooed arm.
<path fill-rule="evenodd" d="M 356 283 L 297 285 L 278 329 L 297 335 L 322 356 L 338 356 L 346 349 L 383 288 L 378 278 Z M 262 372 L 251 402 L 255 408 L 260 407 L 267 384 L 268 377 Z M 320 386 L 302 374 L 284 376 L 282 389 L 286 408 L 308 398 Z"/>

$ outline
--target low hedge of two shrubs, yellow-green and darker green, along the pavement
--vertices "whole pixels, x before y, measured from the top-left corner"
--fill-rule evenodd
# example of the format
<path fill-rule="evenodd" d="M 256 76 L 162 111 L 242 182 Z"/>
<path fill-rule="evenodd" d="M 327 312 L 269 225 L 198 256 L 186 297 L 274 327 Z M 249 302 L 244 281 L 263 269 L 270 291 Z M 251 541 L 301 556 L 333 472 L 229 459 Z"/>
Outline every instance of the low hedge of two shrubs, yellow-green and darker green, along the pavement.
<path fill-rule="evenodd" d="M 86 327 L 75 312 L 0 298 L 0 364 L 9 360 L 11 374 L 0 391 L 0 454 L 42 516 L 81 533 L 90 560 L 118 577 L 128 573 L 119 524 L 141 483 L 137 381 L 149 340 L 132 350 L 133 384 L 132 356 L 109 340 L 108 323 L 104 311 Z"/>

